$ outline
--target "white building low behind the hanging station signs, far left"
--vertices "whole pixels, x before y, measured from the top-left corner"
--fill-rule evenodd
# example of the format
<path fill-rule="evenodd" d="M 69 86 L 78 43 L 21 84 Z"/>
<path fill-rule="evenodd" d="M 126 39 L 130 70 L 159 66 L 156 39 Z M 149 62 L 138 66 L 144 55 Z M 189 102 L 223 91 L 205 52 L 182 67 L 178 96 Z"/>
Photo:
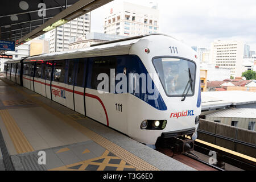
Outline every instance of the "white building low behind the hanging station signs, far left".
<path fill-rule="evenodd" d="M 22 57 L 30 56 L 30 42 L 24 43 L 15 47 L 15 51 L 6 51 L 6 55 L 13 55 L 13 59 L 21 59 Z M 0 59 L 1 72 L 3 72 L 4 63 L 10 59 Z"/>

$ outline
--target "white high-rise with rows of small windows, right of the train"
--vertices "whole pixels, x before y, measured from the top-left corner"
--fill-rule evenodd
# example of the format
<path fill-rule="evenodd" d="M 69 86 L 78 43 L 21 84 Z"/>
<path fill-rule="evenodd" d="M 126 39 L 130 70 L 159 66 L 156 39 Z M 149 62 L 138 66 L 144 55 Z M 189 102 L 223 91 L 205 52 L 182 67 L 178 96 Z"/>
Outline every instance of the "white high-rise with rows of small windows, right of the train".
<path fill-rule="evenodd" d="M 231 70 L 232 77 L 241 77 L 244 44 L 239 41 L 217 40 L 211 44 L 210 63 Z"/>

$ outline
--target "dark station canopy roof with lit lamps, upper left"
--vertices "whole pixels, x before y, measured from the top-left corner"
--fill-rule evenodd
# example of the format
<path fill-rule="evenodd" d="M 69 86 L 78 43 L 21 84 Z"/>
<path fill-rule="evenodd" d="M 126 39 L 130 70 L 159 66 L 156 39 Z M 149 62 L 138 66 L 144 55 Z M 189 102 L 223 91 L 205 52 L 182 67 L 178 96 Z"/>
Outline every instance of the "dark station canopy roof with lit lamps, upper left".
<path fill-rule="evenodd" d="M 0 40 L 19 46 L 113 0 L 2 0 Z"/>

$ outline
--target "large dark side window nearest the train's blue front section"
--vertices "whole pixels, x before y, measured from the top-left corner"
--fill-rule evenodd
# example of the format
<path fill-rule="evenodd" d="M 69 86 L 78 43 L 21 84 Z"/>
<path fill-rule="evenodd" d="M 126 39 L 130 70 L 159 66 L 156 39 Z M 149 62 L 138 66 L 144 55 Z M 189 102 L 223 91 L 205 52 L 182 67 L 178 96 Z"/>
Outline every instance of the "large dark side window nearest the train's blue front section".
<path fill-rule="evenodd" d="M 102 82 L 102 80 L 98 80 L 98 75 L 101 73 L 105 73 L 109 78 L 109 92 L 110 92 L 110 69 L 116 68 L 116 57 L 96 57 L 93 59 L 93 68 L 92 68 L 92 81 L 91 86 L 92 89 L 98 89 L 98 84 Z M 104 88 L 101 88 L 105 90 Z"/>

